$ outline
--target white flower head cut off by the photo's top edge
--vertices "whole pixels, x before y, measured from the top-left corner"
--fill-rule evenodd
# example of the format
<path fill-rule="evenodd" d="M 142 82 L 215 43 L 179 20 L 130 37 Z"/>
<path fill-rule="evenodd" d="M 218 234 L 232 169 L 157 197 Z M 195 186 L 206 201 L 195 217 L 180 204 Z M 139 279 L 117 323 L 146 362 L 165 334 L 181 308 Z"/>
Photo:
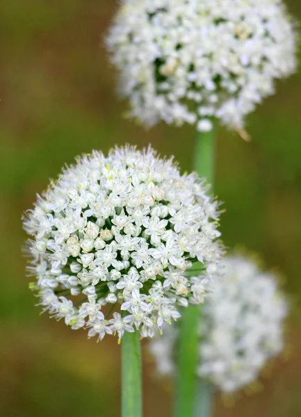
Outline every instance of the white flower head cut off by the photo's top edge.
<path fill-rule="evenodd" d="M 244 117 L 295 71 L 295 34 L 281 0 L 124 0 L 108 35 L 130 117 L 147 126 Z"/>

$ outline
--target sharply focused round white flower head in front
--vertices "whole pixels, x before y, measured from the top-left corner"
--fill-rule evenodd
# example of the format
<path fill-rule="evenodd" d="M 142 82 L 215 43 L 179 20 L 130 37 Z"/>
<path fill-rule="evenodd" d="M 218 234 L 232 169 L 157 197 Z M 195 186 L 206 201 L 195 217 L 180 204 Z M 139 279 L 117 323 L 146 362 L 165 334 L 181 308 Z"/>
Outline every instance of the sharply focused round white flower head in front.
<path fill-rule="evenodd" d="M 222 256 L 207 191 L 150 148 L 93 152 L 66 167 L 24 220 L 43 311 L 101 340 L 136 329 L 152 337 L 178 306 L 202 303 Z M 193 261 L 202 270 L 186 277 Z"/>

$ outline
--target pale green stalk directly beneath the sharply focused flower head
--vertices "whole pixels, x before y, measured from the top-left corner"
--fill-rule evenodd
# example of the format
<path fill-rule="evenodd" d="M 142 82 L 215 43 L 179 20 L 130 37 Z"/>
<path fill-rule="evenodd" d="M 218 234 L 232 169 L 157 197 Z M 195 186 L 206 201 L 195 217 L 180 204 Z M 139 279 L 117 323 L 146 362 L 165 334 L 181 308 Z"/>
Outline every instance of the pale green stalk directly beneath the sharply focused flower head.
<path fill-rule="evenodd" d="M 142 417 L 141 347 L 139 332 L 124 332 L 122 350 L 122 417 Z"/>

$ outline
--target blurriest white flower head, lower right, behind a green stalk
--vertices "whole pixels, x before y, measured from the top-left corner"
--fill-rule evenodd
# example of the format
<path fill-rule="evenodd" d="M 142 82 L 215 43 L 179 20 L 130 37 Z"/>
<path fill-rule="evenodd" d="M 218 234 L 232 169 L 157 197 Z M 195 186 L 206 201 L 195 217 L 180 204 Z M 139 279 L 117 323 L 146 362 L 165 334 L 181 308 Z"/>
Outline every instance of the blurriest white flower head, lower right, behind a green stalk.
<path fill-rule="evenodd" d="M 277 280 L 241 256 L 229 256 L 225 275 L 203 307 L 200 320 L 199 377 L 230 393 L 256 381 L 268 359 L 281 352 L 287 315 Z M 158 372 L 174 373 L 179 331 L 164 328 L 150 343 Z"/>

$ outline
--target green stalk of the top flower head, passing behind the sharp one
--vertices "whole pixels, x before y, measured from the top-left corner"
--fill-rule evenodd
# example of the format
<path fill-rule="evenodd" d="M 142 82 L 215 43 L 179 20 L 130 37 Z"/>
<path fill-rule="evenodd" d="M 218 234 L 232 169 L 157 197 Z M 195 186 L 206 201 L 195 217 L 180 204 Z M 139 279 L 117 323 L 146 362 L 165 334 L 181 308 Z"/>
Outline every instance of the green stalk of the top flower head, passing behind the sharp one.
<path fill-rule="evenodd" d="M 214 154 L 214 131 L 197 133 L 193 168 L 211 186 L 214 180 Z M 201 306 L 188 306 L 181 313 L 175 417 L 195 415 L 198 398 L 196 371 L 200 362 L 198 329 L 201 315 Z"/>

